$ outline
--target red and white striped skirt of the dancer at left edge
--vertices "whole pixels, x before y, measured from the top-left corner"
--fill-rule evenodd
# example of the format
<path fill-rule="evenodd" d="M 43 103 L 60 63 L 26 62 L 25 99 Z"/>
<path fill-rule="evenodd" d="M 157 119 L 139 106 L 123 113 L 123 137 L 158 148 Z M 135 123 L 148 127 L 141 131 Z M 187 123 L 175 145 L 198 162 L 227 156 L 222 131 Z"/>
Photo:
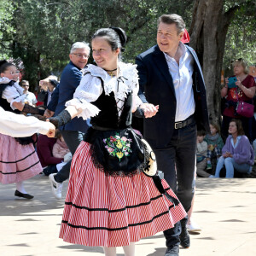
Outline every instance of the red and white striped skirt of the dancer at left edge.
<path fill-rule="evenodd" d="M 18 183 L 43 172 L 32 145 L 20 145 L 14 137 L 0 133 L 0 182 Z"/>

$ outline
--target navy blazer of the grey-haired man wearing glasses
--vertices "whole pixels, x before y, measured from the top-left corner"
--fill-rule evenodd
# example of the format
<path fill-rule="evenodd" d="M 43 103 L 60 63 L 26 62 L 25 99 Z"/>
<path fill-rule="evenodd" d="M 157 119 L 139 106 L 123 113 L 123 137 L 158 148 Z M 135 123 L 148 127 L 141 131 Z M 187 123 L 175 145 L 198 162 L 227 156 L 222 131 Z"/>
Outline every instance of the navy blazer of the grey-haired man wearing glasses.
<path fill-rule="evenodd" d="M 72 61 L 69 61 L 67 66 L 61 73 L 61 81 L 59 85 L 59 101 L 55 109 L 55 115 L 61 113 L 64 110 L 65 103 L 73 99 L 73 94 L 80 84 L 82 79 L 82 73 L 79 67 L 73 65 Z M 88 130 L 88 125 L 86 120 L 82 118 L 74 118 L 66 125 L 59 127 L 60 130 L 65 131 L 82 131 L 86 132 Z"/>

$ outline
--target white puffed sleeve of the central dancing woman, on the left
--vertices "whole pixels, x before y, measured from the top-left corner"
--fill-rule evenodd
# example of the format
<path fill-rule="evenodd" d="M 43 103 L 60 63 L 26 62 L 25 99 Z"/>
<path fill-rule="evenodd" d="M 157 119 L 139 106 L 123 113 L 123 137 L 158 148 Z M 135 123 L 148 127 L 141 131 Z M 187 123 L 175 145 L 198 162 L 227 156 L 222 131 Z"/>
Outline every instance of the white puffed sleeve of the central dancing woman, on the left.
<path fill-rule="evenodd" d="M 74 106 L 79 111 L 78 117 L 82 117 L 84 120 L 90 119 L 100 112 L 100 109 L 90 102 L 95 102 L 102 91 L 101 80 L 90 73 L 85 73 L 73 94 L 73 99 L 66 102 L 66 107 Z"/>

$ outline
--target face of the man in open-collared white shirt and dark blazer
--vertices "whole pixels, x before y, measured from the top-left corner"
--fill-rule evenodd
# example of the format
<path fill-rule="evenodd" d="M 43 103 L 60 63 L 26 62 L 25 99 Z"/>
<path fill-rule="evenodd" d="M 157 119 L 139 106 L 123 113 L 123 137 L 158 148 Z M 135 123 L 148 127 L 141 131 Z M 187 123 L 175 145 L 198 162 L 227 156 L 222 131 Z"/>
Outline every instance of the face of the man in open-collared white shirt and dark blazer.
<path fill-rule="evenodd" d="M 160 22 L 157 29 L 157 44 L 161 51 L 172 56 L 173 50 L 176 51 L 179 41 L 183 38 L 183 33 L 177 34 L 177 26 L 175 23 L 166 24 Z M 173 57 L 173 56 L 172 56 Z"/>

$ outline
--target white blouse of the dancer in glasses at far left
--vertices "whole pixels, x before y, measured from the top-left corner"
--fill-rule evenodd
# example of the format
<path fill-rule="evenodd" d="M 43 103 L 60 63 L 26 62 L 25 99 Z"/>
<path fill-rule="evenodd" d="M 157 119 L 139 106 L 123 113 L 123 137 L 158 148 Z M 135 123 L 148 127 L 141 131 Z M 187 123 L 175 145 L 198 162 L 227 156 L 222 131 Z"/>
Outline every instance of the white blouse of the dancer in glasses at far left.
<path fill-rule="evenodd" d="M 7 78 L 1 78 L 0 79 L 0 86 L 2 84 L 9 84 L 10 80 Z M 23 94 L 23 88 L 20 87 L 20 85 L 16 82 L 12 86 L 8 85 L 4 90 L 2 94 L 2 98 L 7 100 L 7 102 L 10 103 L 10 107 L 12 109 L 16 109 L 13 106 L 14 102 L 24 102 L 26 95 Z"/>

